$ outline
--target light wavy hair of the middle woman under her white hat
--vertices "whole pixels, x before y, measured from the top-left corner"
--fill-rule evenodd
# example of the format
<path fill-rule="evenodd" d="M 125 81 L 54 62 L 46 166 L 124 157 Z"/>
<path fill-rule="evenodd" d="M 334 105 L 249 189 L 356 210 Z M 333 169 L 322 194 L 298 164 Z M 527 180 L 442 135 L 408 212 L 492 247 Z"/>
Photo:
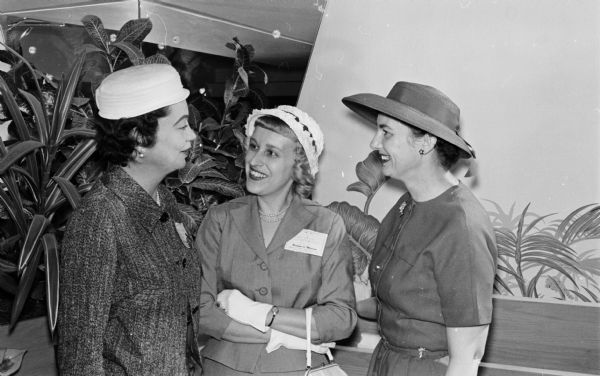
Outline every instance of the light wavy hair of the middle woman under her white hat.
<path fill-rule="evenodd" d="M 259 117 L 256 119 L 255 126 L 270 130 L 295 142 L 296 157 L 292 167 L 292 190 L 300 197 L 310 198 L 315 186 L 315 178 L 310 173 L 308 158 L 306 158 L 306 153 L 294 131 L 283 120 L 272 115 Z"/>

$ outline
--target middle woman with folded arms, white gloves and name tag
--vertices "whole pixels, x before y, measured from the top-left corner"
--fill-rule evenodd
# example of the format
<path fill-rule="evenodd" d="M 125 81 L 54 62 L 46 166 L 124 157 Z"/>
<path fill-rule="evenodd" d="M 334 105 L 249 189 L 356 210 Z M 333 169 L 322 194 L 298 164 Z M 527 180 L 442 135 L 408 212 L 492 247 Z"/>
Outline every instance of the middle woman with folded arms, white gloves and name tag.
<path fill-rule="evenodd" d="M 305 309 L 314 364 L 356 325 L 343 220 L 309 200 L 323 150 L 318 124 L 296 107 L 255 110 L 246 124 L 251 195 L 203 220 L 200 324 L 206 375 L 303 375 Z"/>

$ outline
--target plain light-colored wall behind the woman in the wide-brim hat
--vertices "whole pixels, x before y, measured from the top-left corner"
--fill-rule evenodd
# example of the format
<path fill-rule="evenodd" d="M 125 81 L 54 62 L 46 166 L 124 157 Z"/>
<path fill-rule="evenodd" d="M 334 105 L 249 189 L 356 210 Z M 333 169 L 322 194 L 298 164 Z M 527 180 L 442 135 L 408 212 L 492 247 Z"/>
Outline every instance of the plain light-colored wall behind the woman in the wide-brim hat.
<path fill-rule="evenodd" d="M 600 201 L 600 2 L 330 0 L 298 102 L 326 137 L 318 201 L 363 205 L 345 189 L 374 129 L 341 98 L 401 80 L 461 107 L 480 198 L 538 214 Z M 382 190 L 371 212 L 398 194 Z"/>

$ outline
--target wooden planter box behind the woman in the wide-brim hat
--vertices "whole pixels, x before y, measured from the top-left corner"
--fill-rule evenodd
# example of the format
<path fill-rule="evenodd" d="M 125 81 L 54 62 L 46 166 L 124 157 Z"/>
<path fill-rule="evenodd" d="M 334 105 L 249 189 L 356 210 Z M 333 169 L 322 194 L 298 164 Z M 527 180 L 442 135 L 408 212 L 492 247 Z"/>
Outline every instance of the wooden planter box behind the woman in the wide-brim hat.
<path fill-rule="evenodd" d="M 377 325 L 360 320 L 336 347 L 350 376 L 366 375 Z M 600 375 L 600 304 L 494 296 L 494 317 L 480 376 Z"/>

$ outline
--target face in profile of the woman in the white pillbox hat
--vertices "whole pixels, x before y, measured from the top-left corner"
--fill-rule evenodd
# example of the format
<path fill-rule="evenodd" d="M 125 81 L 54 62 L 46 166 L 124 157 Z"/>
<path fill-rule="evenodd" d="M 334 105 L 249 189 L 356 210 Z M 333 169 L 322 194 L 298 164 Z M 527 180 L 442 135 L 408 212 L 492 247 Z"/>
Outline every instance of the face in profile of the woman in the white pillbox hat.
<path fill-rule="evenodd" d="M 165 176 L 185 166 L 185 158 L 196 134 L 188 125 L 185 100 L 169 106 L 168 114 L 158 119 L 156 142 L 144 150 L 144 163 Z"/>

